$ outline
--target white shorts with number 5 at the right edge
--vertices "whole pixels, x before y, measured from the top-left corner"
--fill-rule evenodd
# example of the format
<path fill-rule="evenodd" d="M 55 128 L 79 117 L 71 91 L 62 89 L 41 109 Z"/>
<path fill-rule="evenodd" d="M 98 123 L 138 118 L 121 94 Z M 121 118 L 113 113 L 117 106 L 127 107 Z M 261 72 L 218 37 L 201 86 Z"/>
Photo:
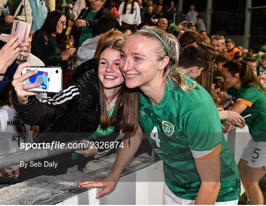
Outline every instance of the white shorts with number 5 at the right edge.
<path fill-rule="evenodd" d="M 244 148 L 241 159 L 248 161 L 247 166 L 265 170 L 266 168 L 266 142 L 250 140 Z"/>

